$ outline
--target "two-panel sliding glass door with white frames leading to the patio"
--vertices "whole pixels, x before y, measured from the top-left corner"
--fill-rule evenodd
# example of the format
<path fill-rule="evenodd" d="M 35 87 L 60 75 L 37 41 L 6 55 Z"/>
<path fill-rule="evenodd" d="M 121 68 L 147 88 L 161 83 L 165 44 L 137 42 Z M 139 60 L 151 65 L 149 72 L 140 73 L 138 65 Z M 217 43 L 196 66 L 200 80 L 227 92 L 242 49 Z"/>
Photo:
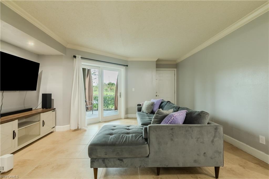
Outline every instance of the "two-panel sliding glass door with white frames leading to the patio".
<path fill-rule="evenodd" d="M 87 123 L 120 118 L 120 71 L 82 65 Z"/>

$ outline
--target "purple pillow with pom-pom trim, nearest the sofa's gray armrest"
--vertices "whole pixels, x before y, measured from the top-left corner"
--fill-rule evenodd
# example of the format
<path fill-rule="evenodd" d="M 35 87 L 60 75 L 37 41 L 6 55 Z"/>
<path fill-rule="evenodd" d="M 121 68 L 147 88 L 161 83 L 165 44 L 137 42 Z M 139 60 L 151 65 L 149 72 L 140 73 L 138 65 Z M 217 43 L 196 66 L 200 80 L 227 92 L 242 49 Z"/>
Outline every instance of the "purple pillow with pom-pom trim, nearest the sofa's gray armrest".
<path fill-rule="evenodd" d="M 183 124 L 186 117 L 187 110 L 182 110 L 168 114 L 161 122 L 161 124 Z"/>

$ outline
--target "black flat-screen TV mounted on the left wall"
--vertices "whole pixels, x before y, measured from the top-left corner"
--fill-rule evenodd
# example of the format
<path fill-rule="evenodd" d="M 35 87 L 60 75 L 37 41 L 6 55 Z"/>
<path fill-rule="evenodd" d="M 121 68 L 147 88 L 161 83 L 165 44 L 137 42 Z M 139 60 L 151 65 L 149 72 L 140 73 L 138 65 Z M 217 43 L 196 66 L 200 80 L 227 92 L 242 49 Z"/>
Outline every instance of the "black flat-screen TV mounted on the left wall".
<path fill-rule="evenodd" d="M 0 52 L 0 91 L 36 91 L 39 65 Z"/>

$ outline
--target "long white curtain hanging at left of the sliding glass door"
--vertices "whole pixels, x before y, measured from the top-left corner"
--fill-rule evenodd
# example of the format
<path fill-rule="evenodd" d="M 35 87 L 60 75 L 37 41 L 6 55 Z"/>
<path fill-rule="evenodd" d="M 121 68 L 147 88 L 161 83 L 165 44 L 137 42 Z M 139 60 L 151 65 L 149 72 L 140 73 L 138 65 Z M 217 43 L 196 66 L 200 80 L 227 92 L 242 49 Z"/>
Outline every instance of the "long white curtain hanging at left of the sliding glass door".
<path fill-rule="evenodd" d="M 70 109 L 70 128 L 77 129 L 87 126 L 85 110 L 85 93 L 82 74 L 81 56 L 74 58 L 73 88 Z"/>

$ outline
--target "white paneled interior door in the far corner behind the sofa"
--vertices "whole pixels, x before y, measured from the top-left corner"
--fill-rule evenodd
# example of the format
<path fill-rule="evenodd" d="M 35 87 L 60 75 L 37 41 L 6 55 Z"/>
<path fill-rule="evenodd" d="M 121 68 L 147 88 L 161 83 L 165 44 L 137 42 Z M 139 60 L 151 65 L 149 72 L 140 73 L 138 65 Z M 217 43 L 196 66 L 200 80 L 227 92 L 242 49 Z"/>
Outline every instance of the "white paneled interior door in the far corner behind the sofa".
<path fill-rule="evenodd" d="M 175 70 L 156 70 L 156 99 L 175 104 Z"/>

